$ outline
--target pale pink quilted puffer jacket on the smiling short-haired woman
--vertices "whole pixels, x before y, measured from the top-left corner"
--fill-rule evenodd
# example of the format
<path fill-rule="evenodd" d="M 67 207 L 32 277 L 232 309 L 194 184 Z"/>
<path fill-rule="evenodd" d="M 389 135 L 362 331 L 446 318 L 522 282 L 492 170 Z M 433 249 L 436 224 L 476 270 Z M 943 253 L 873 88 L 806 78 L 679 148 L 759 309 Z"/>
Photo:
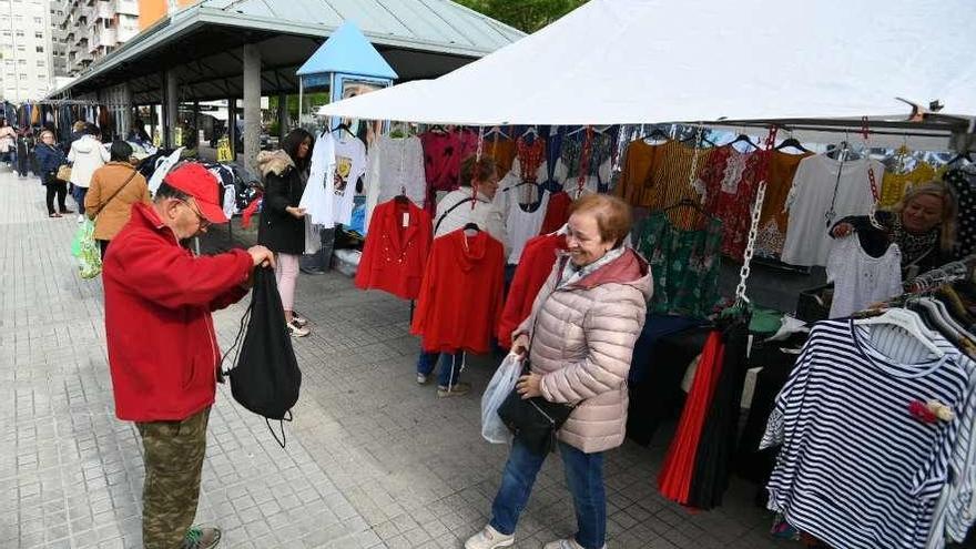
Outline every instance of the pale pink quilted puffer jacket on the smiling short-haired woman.
<path fill-rule="evenodd" d="M 530 334 L 532 372 L 542 396 L 577 404 L 559 430 L 563 443 L 591 454 L 623 444 L 627 375 L 651 297 L 651 270 L 632 250 L 562 288 L 558 261 L 532 314 L 512 334 Z M 535 326 L 535 336 L 531 335 Z"/>

